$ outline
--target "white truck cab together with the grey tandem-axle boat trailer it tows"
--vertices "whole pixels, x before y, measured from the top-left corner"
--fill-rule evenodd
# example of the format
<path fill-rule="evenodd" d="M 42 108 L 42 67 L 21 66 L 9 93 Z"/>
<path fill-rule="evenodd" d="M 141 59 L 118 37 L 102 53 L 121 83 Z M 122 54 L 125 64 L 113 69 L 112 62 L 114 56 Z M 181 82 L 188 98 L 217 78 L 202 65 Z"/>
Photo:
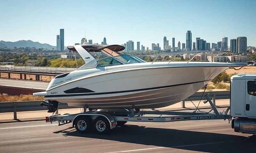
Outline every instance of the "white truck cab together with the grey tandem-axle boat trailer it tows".
<path fill-rule="evenodd" d="M 176 111 L 143 111 L 139 109 L 100 109 L 83 113 L 56 114 L 46 117 L 46 122 L 58 121 L 59 125 L 73 122 L 73 127 L 80 133 L 107 133 L 117 125 L 122 126 L 127 121 L 137 122 L 172 122 L 182 120 L 232 120 L 231 127 L 235 132 L 256 134 L 256 74 L 239 74 L 231 77 L 230 107 L 219 112 L 205 93 L 214 113 L 176 112 Z M 202 95 L 203 96 L 203 95 Z M 230 110 L 230 114 L 229 113 Z"/>

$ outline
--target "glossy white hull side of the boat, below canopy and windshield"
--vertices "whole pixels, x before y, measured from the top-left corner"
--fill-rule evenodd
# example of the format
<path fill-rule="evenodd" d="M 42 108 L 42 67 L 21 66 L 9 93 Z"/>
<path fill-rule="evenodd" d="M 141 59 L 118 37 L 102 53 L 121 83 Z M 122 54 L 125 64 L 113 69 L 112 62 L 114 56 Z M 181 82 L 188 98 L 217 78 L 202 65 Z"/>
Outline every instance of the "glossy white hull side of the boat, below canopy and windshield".
<path fill-rule="evenodd" d="M 108 71 L 87 77 L 69 85 L 86 88 L 93 93 L 62 93 L 66 85 L 47 92 L 59 95 L 45 99 L 67 103 L 68 106 L 89 108 L 159 108 L 178 103 L 204 87 L 228 67 L 154 68 Z M 118 75 L 116 74 L 118 73 Z M 100 87 L 100 88 L 99 88 Z"/>

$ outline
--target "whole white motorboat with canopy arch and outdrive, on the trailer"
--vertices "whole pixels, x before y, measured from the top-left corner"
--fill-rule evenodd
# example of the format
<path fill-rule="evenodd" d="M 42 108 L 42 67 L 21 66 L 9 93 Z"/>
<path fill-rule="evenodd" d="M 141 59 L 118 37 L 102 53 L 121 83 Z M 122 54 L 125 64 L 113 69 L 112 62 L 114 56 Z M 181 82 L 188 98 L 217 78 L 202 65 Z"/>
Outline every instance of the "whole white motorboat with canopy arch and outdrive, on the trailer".
<path fill-rule="evenodd" d="M 56 76 L 45 92 L 33 94 L 44 96 L 53 110 L 58 102 L 92 109 L 170 106 L 193 95 L 228 67 L 244 65 L 145 62 L 133 55 L 119 54 L 124 50 L 119 45 L 76 45 L 68 49 L 78 52 L 85 64 Z M 90 53 L 108 57 L 96 61 Z"/>

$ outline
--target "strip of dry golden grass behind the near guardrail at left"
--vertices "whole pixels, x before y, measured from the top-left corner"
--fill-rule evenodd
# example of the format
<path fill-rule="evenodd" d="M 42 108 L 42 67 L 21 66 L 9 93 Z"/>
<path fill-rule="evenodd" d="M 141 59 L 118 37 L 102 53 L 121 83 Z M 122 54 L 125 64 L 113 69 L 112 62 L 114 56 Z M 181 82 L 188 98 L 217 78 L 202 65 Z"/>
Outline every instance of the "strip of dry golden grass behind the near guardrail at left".
<path fill-rule="evenodd" d="M 0 95 L 0 102 L 8 101 L 29 101 L 29 100 L 44 100 L 44 97 L 33 95 Z"/>

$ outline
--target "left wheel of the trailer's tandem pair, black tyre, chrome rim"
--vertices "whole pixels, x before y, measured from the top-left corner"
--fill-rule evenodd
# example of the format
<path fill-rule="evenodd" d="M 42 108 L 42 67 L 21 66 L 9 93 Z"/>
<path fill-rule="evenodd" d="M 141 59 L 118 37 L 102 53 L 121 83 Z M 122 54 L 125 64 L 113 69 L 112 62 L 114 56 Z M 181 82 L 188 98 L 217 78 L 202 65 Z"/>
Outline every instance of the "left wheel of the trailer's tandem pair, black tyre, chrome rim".
<path fill-rule="evenodd" d="M 91 130 L 91 120 L 87 117 L 78 117 L 75 121 L 76 131 L 79 133 L 88 133 Z"/>

